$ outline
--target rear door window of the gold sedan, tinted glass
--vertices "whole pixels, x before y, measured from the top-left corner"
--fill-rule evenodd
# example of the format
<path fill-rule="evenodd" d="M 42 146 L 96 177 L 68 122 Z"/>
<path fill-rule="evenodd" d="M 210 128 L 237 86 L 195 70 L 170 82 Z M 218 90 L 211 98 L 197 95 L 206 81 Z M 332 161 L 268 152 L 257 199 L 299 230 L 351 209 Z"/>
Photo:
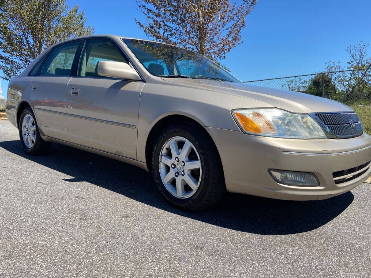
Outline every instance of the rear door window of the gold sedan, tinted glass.
<path fill-rule="evenodd" d="M 80 42 L 73 42 L 53 49 L 44 63 L 41 75 L 70 76 L 79 45 Z"/>

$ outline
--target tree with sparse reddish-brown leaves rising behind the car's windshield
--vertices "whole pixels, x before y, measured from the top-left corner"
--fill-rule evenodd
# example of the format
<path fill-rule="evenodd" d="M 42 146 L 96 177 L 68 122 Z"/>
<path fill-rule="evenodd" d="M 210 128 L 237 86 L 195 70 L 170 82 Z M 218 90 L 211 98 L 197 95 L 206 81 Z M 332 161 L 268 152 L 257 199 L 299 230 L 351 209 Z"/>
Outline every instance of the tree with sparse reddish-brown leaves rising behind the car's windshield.
<path fill-rule="evenodd" d="M 256 0 L 137 0 L 147 21 L 135 19 L 147 36 L 194 50 L 213 60 L 224 59 L 243 43 L 241 29 Z"/>

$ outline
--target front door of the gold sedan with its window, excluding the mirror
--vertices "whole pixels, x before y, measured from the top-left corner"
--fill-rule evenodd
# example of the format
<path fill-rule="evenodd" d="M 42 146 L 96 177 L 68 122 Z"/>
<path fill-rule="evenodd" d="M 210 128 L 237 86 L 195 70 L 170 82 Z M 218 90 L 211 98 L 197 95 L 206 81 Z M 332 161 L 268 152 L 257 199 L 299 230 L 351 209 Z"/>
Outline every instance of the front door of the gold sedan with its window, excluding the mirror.
<path fill-rule="evenodd" d="M 139 97 L 144 82 L 99 76 L 99 61 L 129 63 L 108 38 L 87 39 L 67 87 L 70 142 L 136 158 Z"/>

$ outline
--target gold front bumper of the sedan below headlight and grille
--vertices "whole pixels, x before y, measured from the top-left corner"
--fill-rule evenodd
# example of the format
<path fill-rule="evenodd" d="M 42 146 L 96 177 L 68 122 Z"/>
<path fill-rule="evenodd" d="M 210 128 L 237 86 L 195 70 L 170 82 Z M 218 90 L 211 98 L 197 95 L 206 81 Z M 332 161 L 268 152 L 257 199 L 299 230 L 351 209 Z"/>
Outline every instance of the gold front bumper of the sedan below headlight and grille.
<path fill-rule="evenodd" d="M 371 167 L 351 181 L 336 184 L 333 172 L 371 160 L 371 136 L 349 139 L 283 139 L 206 128 L 219 150 L 227 191 L 284 200 L 319 200 L 347 192 L 371 174 Z M 277 183 L 268 169 L 310 172 L 319 186 Z"/>

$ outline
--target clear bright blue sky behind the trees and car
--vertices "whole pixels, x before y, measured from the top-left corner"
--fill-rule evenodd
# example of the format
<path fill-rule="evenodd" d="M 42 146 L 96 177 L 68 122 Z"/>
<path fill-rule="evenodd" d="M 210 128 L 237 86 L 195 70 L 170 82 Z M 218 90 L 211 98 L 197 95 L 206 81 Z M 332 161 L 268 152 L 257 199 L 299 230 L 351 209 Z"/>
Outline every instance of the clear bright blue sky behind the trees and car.
<path fill-rule="evenodd" d="M 145 38 L 134 21 L 144 19 L 134 0 L 68 3 L 85 10 L 96 34 Z M 319 72 L 328 60 L 345 65 L 349 44 L 371 43 L 370 10 L 370 0 L 258 0 L 242 30 L 244 43 L 222 63 L 243 81 Z M 6 95 L 7 82 L 1 85 Z"/>

